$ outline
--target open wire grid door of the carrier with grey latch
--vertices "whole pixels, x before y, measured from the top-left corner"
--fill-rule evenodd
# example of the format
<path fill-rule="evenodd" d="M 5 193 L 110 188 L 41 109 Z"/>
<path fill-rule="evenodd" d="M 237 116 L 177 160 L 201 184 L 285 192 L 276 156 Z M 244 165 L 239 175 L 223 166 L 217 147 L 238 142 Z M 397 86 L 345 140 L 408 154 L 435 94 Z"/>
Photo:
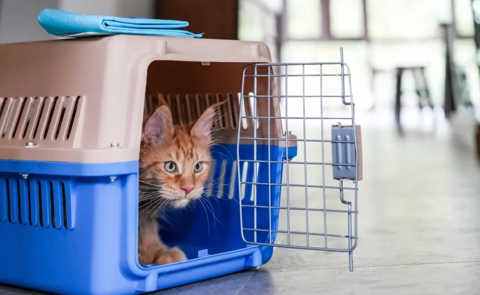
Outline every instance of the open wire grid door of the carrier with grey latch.
<path fill-rule="evenodd" d="M 349 253 L 357 246 L 360 127 L 340 61 L 244 68 L 237 160 L 246 243 Z"/>

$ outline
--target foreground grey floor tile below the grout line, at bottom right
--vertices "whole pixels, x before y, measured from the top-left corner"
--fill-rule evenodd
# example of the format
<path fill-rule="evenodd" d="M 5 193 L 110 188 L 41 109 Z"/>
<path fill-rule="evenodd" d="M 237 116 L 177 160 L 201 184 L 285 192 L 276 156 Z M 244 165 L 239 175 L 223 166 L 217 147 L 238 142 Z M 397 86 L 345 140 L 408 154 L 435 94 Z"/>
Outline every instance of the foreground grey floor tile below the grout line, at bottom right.
<path fill-rule="evenodd" d="M 259 272 L 238 295 L 480 294 L 479 273 L 479 262 Z"/>

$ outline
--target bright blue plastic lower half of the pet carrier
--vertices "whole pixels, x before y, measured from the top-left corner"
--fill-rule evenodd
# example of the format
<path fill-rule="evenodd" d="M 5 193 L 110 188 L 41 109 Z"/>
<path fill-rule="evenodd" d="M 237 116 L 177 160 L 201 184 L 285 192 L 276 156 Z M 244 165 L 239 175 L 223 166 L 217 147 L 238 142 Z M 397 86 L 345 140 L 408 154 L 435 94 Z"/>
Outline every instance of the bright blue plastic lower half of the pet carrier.
<path fill-rule="evenodd" d="M 271 146 L 271 160 L 281 161 L 284 152 Z M 0 160 L 0 282 L 72 295 L 139 294 L 267 263 L 272 247 L 248 245 L 241 237 L 238 202 L 253 200 L 247 185 L 240 201 L 236 154 L 236 145 L 213 147 L 213 182 L 223 187 L 206 192 L 205 207 L 198 203 L 194 209 L 166 212 L 162 240 L 179 245 L 189 260 L 146 267 L 137 262 L 137 161 Z M 267 160 L 268 147 L 257 146 L 257 158 Z M 241 145 L 240 159 L 253 159 L 253 146 Z M 251 164 L 240 162 L 246 181 L 253 180 Z M 281 183 L 282 164 L 270 165 L 271 183 Z M 268 182 L 268 163 L 259 164 L 258 181 Z M 271 186 L 271 205 L 279 202 L 280 186 Z M 268 206 L 268 187 L 257 187 L 257 204 Z M 259 228 L 268 227 L 266 210 L 257 212 Z M 243 226 L 253 227 L 253 209 L 242 214 Z M 278 210 L 272 209 L 271 218 L 276 230 Z M 244 232 L 247 240 L 252 235 Z M 267 241 L 269 235 L 258 233 L 257 239 Z"/>

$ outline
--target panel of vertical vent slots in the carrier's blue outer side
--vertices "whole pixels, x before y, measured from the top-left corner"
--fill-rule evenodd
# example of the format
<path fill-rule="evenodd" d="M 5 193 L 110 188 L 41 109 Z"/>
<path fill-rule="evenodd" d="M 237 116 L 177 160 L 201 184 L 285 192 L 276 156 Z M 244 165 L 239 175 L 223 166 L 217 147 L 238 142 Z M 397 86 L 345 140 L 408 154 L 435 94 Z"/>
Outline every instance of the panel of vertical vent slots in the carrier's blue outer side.
<path fill-rule="evenodd" d="M 0 178 L 0 221 L 73 229 L 69 181 Z"/>

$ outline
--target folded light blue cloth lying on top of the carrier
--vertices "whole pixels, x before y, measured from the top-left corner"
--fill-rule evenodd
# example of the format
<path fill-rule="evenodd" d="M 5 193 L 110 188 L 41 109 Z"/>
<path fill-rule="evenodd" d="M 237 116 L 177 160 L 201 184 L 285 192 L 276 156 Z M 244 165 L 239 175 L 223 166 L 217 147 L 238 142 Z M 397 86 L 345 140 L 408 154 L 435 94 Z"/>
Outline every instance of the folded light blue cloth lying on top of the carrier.
<path fill-rule="evenodd" d="M 188 22 L 82 15 L 58 9 L 42 10 L 38 15 L 38 23 L 48 33 L 62 37 L 132 34 L 200 38 L 203 34 L 178 29 L 188 27 Z"/>

